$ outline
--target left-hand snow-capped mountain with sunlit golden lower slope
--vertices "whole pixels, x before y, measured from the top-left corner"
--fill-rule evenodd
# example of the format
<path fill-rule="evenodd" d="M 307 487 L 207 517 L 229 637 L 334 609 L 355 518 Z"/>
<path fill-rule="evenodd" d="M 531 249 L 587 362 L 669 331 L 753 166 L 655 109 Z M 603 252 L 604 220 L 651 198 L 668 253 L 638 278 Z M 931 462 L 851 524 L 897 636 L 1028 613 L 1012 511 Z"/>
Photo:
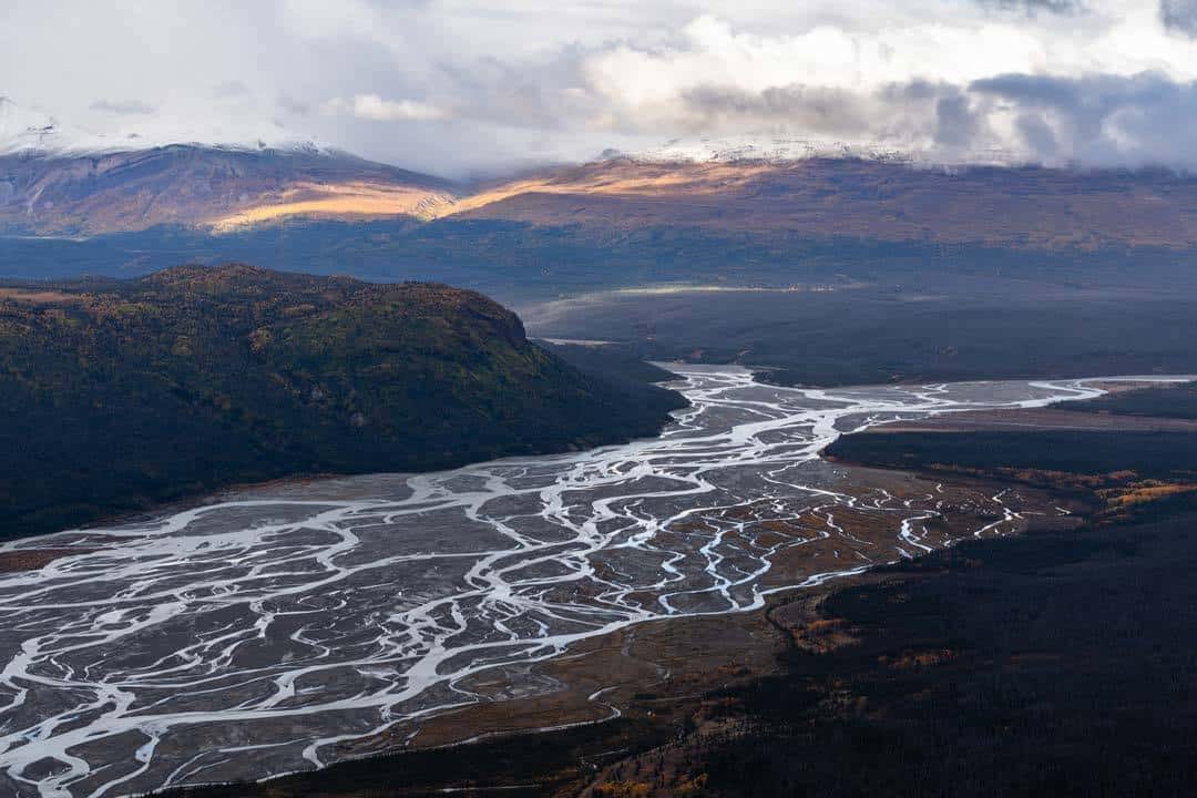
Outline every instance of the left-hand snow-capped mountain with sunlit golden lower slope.
<path fill-rule="evenodd" d="M 0 232 L 227 232 L 296 215 L 421 218 L 455 196 L 440 178 L 302 139 L 110 140 L 0 98 Z"/>

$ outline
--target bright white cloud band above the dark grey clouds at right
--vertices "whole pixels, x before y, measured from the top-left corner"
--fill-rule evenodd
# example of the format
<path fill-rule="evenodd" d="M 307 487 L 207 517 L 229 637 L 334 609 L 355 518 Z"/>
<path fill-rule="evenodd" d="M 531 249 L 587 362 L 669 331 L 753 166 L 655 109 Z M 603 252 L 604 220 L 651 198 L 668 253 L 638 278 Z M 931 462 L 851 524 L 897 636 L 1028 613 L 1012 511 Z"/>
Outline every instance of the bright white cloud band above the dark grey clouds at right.
<path fill-rule="evenodd" d="M 1025 18 L 950 25 L 936 18 L 882 30 L 819 25 L 762 36 L 704 16 L 668 47 L 619 44 L 589 54 L 584 71 L 622 120 L 646 126 L 683 114 L 686 95 L 709 86 L 764 92 L 801 84 L 870 92 L 911 81 L 965 85 L 1011 73 L 1125 77 L 1149 69 L 1197 78 L 1197 53 L 1169 38 L 1153 13 L 1130 14 L 1100 35 L 1088 28 Z"/>

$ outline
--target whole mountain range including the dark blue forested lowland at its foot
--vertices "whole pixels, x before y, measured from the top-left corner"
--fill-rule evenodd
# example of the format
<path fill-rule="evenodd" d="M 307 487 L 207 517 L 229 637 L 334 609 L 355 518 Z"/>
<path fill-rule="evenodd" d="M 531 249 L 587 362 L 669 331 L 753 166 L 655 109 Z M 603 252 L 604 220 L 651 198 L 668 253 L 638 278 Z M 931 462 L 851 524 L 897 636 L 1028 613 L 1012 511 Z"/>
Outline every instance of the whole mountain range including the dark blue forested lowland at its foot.
<path fill-rule="evenodd" d="M 521 305 L 656 284 L 942 293 L 998 280 L 1033 297 L 1197 279 L 1197 178 L 1163 169 L 944 165 L 747 138 L 461 185 L 281 134 L 129 148 L 28 114 L 6 126 L 20 144 L 0 146 L 10 278 L 245 261 Z"/>

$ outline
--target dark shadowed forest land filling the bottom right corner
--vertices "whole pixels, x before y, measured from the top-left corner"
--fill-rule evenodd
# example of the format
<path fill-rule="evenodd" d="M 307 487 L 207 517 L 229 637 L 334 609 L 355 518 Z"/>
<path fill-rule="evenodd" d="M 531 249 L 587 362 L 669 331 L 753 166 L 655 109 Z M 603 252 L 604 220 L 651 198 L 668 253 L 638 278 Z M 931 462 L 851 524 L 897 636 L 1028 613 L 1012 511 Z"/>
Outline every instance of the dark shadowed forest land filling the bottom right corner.
<path fill-rule="evenodd" d="M 821 614 L 853 645 L 730 696 L 754 723 L 689 753 L 703 794 L 1189 794 L 1197 516 L 1159 510 L 968 541 L 834 595 Z"/>

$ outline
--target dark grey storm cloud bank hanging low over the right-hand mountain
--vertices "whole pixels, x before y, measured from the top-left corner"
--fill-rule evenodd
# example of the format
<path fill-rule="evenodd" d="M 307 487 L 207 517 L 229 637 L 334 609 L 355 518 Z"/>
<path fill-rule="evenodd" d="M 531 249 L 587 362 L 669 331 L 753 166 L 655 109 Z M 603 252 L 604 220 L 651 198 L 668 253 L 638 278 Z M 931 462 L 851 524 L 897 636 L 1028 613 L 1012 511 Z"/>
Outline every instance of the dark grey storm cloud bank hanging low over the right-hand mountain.
<path fill-rule="evenodd" d="M 683 123 L 789 126 L 816 136 L 923 148 L 946 158 L 1197 166 L 1197 83 L 1160 73 L 1053 78 L 1004 74 L 958 86 L 911 81 L 856 92 L 795 84 L 685 96 Z"/>

